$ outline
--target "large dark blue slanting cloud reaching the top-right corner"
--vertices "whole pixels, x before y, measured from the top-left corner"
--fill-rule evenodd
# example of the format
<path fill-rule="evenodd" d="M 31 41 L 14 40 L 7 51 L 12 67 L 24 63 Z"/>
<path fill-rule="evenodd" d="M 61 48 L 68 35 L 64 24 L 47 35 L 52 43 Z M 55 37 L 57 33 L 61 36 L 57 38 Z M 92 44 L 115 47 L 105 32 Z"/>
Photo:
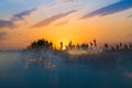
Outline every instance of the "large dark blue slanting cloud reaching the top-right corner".
<path fill-rule="evenodd" d="M 110 4 L 108 7 L 103 7 L 101 9 L 98 9 L 91 13 L 88 13 L 86 15 L 84 15 L 81 19 L 87 19 L 87 18 L 91 18 L 91 16 L 96 16 L 96 15 L 110 15 L 117 12 L 121 12 L 128 9 L 132 8 L 132 0 L 121 0 L 119 2 L 116 2 L 113 4 Z"/>

